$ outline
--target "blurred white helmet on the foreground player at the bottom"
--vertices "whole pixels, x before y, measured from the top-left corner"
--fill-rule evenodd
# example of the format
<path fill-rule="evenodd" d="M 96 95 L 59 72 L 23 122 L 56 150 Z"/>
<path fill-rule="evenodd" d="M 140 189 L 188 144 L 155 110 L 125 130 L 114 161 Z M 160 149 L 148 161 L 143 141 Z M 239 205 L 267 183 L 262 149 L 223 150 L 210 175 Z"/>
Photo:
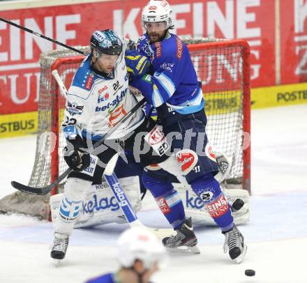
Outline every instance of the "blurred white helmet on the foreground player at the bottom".
<path fill-rule="evenodd" d="M 144 268 L 149 269 L 154 263 L 163 262 L 165 248 L 151 231 L 135 227 L 130 228 L 117 240 L 118 258 L 122 267 L 130 268 L 138 259 Z"/>

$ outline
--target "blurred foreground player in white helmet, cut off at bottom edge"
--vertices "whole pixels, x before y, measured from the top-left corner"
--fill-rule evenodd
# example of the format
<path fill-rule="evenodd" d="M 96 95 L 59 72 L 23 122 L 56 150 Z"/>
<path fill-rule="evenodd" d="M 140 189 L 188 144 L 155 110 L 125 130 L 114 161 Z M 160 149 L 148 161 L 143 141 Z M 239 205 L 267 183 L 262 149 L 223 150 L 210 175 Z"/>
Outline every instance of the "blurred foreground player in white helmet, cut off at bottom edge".
<path fill-rule="evenodd" d="M 87 283 L 150 283 L 159 263 L 164 261 L 165 248 L 147 229 L 130 228 L 119 236 L 117 257 L 120 267 L 115 273 L 107 273 Z"/>

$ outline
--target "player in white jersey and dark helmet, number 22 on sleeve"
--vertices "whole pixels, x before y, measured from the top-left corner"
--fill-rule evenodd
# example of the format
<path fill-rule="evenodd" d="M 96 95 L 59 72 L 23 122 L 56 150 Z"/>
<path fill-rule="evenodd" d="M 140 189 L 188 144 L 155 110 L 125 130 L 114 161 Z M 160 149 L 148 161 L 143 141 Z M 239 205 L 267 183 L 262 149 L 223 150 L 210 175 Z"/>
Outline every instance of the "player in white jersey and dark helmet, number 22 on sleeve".
<path fill-rule="evenodd" d="M 67 141 L 64 159 L 74 171 L 68 175 L 59 215 L 54 223 L 51 250 L 53 259 L 65 257 L 68 239 L 85 194 L 92 184 L 101 183 L 105 165 L 114 154 L 123 149 L 119 138 L 133 146 L 133 131 L 137 128 L 138 131 L 146 132 L 151 130 L 154 124 L 153 121 L 146 121 L 144 112 L 138 109 L 93 155 L 87 153 L 137 102 L 128 89 L 124 57 L 126 41 L 107 29 L 95 31 L 90 45 L 91 53 L 77 69 L 68 90 L 63 117 L 62 129 Z M 145 57 L 139 59 L 135 60 L 135 75 L 142 75 L 148 67 Z M 130 135 L 131 133 L 133 135 Z"/>

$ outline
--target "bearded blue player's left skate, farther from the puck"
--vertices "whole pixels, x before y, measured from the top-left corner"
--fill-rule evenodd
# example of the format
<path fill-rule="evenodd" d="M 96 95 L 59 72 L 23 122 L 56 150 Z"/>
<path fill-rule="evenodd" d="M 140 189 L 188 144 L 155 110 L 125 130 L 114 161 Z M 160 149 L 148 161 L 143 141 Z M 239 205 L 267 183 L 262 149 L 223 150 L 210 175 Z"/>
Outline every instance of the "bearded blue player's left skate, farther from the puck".
<path fill-rule="evenodd" d="M 200 254 L 200 250 L 197 247 L 197 238 L 192 227 L 191 217 L 186 218 L 184 224 L 182 224 L 176 232 L 176 235 L 163 238 L 162 243 L 167 250 L 183 250 L 179 249 L 179 247 L 184 247 L 184 250 L 186 251 Z"/>

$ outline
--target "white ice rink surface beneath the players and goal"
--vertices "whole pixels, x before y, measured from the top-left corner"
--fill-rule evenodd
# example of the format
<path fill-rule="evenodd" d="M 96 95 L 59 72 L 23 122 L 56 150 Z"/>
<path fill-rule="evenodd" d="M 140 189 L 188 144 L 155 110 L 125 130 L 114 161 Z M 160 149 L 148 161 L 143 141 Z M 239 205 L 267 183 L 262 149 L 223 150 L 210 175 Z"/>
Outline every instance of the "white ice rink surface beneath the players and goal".
<path fill-rule="evenodd" d="M 153 282 L 307 282 L 307 105 L 254 110 L 251 115 L 252 192 L 250 222 L 239 226 L 248 251 L 241 264 L 223 253 L 215 227 L 195 227 L 200 255 L 168 253 L 167 267 Z M 27 183 L 36 137 L 0 139 L 0 198 Z M 152 200 L 147 196 L 147 204 Z M 167 227 L 158 210 L 138 213 L 149 226 Z M 70 283 L 117 268 L 115 242 L 127 224 L 75 229 L 66 259 L 50 259 L 52 223 L 21 215 L 0 215 L 0 282 Z M 244 270 L 254 269 L 254 277 Z"/>

